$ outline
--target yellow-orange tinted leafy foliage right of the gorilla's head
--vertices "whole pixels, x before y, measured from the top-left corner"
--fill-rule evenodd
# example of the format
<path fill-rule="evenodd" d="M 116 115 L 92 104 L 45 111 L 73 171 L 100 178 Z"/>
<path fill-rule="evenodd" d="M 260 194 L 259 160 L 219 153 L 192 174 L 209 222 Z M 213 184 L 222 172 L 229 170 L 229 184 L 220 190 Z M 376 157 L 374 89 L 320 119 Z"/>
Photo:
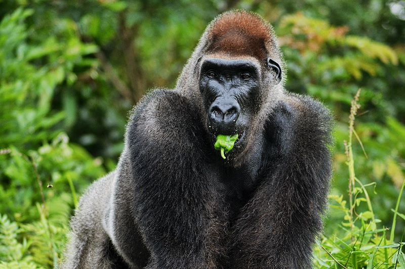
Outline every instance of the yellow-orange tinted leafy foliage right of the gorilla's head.
<path fill-rule="evenodd" d="M 300 13 L 280 22 L 280 39 L 286 53 L 301 59 L 298 63 L 309 79 L 305 86 L 324 100 L 350 103 L 354 83 L 362 79 L 363 73 L 376 76 L 382 64 L 398 64 L 392 48 L 367 37 L 347 35 L 348 30 Z M 340 95 L 333 94 L 330 85 L 339 86 Z"/>

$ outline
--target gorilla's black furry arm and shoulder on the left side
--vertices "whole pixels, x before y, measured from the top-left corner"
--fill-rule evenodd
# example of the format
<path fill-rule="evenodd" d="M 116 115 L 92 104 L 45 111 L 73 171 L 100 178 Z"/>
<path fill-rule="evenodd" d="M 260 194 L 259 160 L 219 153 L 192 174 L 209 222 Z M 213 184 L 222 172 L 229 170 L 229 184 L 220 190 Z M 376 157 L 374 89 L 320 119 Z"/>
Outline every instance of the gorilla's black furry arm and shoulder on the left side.
<path fill-rule="evenodd" d="M 208 180 L 208 142 L 194 110 L 176 91 L 156 90 L 133 112 L 111 201 L 116 209 L 107 221 L 114 246 L 130 264 L 215 267 L 226 222 L 218 219 L 222 198 Z M 148 257 L 134 247 L 134 233 Z"/>

